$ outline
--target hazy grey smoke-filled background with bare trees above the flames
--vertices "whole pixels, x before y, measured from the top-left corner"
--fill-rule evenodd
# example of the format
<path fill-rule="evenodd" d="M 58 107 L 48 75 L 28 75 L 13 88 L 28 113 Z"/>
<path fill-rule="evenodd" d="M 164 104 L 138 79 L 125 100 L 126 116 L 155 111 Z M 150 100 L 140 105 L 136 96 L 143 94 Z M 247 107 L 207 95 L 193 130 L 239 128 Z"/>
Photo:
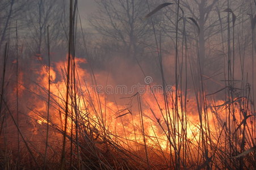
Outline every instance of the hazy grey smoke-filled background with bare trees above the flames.
<path fill-rule="evenodd" d="M 66 57 L 69 2 L 1 3 L 1 54 L 4 54 L 5 43 L 8 41 L 10 60 L 15 59 L 15 48 L 18 46 L 21 60 L 37 62 L 40 58 L 46 63 L 49 28 L 52 61 L 60 61 Z M 205 88 L 208 88 L 209 92 L 215 91 L 220 84 L 225 87 L 225 82 L 220 80 L 227 76 L 228 53 L 231 62 L 234 59 L 234 79 L 241 79 L 241 73 L 244 73 L 247 81 L 253 84 L 251 53 L 255 51 L 252 44 L 255 2 L 230 2 L 229 8 L 232 12 L 229 12 L 228 28 L 228 12 L 225 11 L 228 8 L 227 2 L 181 1 L 182 11 L 179 19 L 186 19 L 186 22 L 179 20 L 178 32 L 175 30 L 174 5 L 166 6 L 151 18 L 145 19 L 146 14 L 160 4 L 154 1 L 78 1 L 78 16 L 75 20 L 76 56 L 89 61 L 95 71 L 103 71 L 114 76 L 116 84 L 135 84 L 139 80 L 143 81 L 145 75 L 152 76 L 156 82 L 161 82 L 161 56 L 165 80 L 173 85 L 177 33 L 180 58 L 178 64 L 184 67 L 185 53 L 190 59 L 187 65 L 191 67 L 197 67 L 199 59 Z M 185 43 L 186 49 L 182 50 L 180 47 Z M 228 45 L 231 48 L 230 52 Z M 181 66 L 177 69 L 179 72 L 182 72 Z"/>

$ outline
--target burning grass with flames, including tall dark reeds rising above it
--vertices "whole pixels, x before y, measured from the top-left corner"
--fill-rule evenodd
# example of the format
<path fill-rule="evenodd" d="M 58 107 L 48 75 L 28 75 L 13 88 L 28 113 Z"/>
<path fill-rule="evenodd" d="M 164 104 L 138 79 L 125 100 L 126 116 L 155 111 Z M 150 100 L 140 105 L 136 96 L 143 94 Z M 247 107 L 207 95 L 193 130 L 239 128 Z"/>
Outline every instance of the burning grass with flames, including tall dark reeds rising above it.
<path fill-rule="evenodd" d="M 65 61 L 50 61 L 47 29 L 48 64 L 40 60 L 41 63 L 36 65 L 38 68 L 30 70 L 31 73 L 18 69 L 17 57 L 12 62 L 16 66 L 16 80 L 6 83 L 9 55 L 9 44 L 6 44 L 0 104 L 1 168 L 255 168 L 255 108 L 251 95 L 254 84 L 250 85 L 245 80 L 242 66 L 242 80 L 234 79 L 235 60 L 231 56 L 229 24 L 228 52 L 224 55 L 224 60 L 228 58 L 228 69 L 224 70 L 224 75 L 228 75 L 224 80 L 225 87 L 208 93 L 198 45 L 195 56 L 188 57 L 185 24 L 181 34 L 182 45 L 178 43 L 181 41 L 178 39 L 178 22 L 186 22 L 184 17 L 179 19 L 181 8 L 178 1 L 175 86 L 170 90 L 165 88 L 161 40 L 158 44 L 154 29 L 157 49 L 160 46 L 157 59 L 163 90 L 155 92 L 153 84 L 146 81 L 144 94 L 136 91 L 122 100 L 125 104 L 120 104 L 98 92 L 96 82 L 100 76 L 94 74 L 93 69 L 90 72 L 83 69 L 81 65 L 86 60 L 75 57 L 77 1 L 74 2 L 70 0 L 68 55 Z M 158 6 L 146 18 L 167 5 L 171 3 Z M 188 19 L 199 28 L 195 19 Z M 235 20 L 233 28 L 234 25 Z M 7 75 L 13 76 L 10 68 L 9 71 Z M 35 78 L 27 80 L 27 77 Z M 220 93 L 223 97 L 216 97 Z"/>

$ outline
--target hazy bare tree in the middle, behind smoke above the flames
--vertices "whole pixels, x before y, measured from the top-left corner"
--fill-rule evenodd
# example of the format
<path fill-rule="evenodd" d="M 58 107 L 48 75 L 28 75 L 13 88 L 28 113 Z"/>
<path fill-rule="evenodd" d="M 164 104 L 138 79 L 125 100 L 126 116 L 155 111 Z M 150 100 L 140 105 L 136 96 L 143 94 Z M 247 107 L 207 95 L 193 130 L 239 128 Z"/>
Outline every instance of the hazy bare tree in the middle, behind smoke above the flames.
<path fill-rule="evenodd" d="M 149 12 L 146 1 L 96 0 L 98 11 L 90 20 L 96 31 L 114 41 L 127 55 L 136 56 L 148 46 L 150 25 L 143 20 Z"/>

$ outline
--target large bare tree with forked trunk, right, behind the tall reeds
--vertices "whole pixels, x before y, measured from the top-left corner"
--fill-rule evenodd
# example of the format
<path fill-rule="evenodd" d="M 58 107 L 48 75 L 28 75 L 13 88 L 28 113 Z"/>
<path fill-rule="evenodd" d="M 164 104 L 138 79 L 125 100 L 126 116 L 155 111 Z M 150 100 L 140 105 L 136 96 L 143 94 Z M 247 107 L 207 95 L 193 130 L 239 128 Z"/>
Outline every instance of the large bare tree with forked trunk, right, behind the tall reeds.
<path fill-rule="evenodd" d="M 198 39 L 199 46 L 199 58 L 200 65 L 202 66 L 202 71 L 205 66 L 205 43 L 209 38 L 216 35 L 216 33 L 221 32 L 219 18 L 217 17 L 217 12 L 215 11 L 216 6 L 222 6 L 224 2 L 218 2 L 217 0 L 182 0 L 181 8 L 183 14 L 181 13 L 181 17 L 193 18 L 195 22 L 198 24 L 198 27 L 195 27 L 195 24 L 191 22 L 191 20 L 187 20 L 191 22 L 191 24 L 186 24 L 187 35 L 191 35 L 190 39 Z M 174 23 L 175 18 L 171 17 L 174 15 L 172 8 L 167 8 L 167 10 L 163 10 L 163 14 L 165 18 L 163 18 L 161 22 L 161 28 L 164 32 L 171 35 L 175 31 Z M 182 22 L 180 22 L 182 23 Z M 195 29 L 194 29 L 195 28 Z M 198 29 L 199 28 L 199 29 Z M 183 29 L 179 28 L 179 33 L 182 35 Z"/>

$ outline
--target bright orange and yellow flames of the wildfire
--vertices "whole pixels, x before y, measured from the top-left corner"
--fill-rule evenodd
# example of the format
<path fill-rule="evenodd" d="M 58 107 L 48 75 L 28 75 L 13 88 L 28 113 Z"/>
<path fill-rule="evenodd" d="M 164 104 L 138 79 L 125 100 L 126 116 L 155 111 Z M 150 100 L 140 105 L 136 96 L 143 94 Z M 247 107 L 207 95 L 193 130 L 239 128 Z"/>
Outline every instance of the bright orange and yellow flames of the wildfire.
<path fill-rule="evenodd" d="M 174 100 L 166 104 L 163 94 L 147 92 L 141 95 L 140 100 L 136 95 L 129 100 L 133 100 L 134 106 L 116 104 L 108 101 L 107 96 L 98 94 L 94 86 L 90 86 L 91 75 L 79 65 L 86 63 L 85 59 L 76 58 L 76 76 L 77 86 L 76 94 L 70 94 L 76 97 L 75 101 L 69 101 L 68 133 L 75 133 L 75 124 L 90 127 L 93 130 L 94 139 L 98 139 L 100 134 L 108 134 L 112 140 L 116 140 L 125 148 L 137 150 L 140 145 L 155 148 L 165 152 L 170 152 L 171 148 L 181 145 L 181 143 L 190 143 L 190 147 L 198 147 L 202 138 L 202 130 L 207 133 L 211 141 L 218 144 L 218 138 L 221 128 L 226 121 L 226 113 L 223 105 L 224 101 L 215 101 L 216 106 L 207 108 L 207 117 L 202 118 L 200 124 L 199 113 L 195 100 L 190 96 L 187 100 L 187 109 L 184 110 L 179 103 L 174 107 Z M 50 109 L 49 125 L 57 129 L 63 129 L 65 121 L 65 94 L 66 80 L 65 63 L 54 63 L 55 67 L 42 66 L 37 71 L 37 84 L 31 84 L 30 91 L 39 95 L 36 99 L 34 108 L 28 113 L 36 124 L 47 124 L 47 93 L 48 78 L 50 71 Z M 97 75 L 98 76 L 98 75 Z M 62 78 L 61 78 L 62 77 Z M 97 77 L 96 77 L 97 78 Z M 100 77 L 98 77 L 100 78 Z M 82 86 L 82 81 L 86 80 L 86 85 Z M 85 83 L 83 83 L 85 84 Z M 149 88 L 149 87 L 146 87 Z M 137 94 L 140 95 L 140 94 Z M 171 94 L 167 97 L 173 99 Z M 139 103 L 141 102 L 141 105 Z M 139 107 L 139 109 L 138 109 Z M 235 105 L 235 114 L 237 124 L 241 124 L 244 117 L 241 116 L 241 108 Z M 205 115 L 204 112 L 200 113 Z M 218 117 L 217 117 L 218 116 Z M 79 120 L 78 120 L 79 119 Z M 78 121 L 78 122 L 76 122 Z M 143 122 L 143 124 L 142 124 Z M 253 131 L 253 124 L 248 124 L 249 131 Z M 31 129 L 37 133 L 38 126 Z"/>

